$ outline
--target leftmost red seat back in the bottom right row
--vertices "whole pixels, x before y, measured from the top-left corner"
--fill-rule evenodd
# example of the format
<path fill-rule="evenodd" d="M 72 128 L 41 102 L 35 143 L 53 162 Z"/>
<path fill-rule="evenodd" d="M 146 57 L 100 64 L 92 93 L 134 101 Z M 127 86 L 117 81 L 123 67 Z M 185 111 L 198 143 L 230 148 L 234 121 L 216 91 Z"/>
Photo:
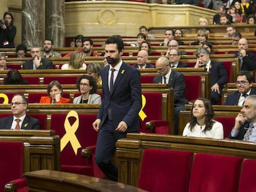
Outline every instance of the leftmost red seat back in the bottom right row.
<path fill-rule="evenodd" d="M 139 188 L 151 192 L 188 191 L 192 157 L 189 151 L 145 149 Z"/>

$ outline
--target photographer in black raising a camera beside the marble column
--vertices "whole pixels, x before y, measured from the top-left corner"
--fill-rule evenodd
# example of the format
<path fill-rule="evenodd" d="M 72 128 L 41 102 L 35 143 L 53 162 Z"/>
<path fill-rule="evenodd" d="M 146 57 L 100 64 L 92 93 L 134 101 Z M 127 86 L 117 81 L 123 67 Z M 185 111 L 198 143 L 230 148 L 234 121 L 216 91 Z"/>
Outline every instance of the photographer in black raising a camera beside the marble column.
<path fill-rule="evenodd" d="M 0 20 L 0 48 L 15 48 L 16 27 L 13 22 L 14 17 L 11 12 L 4 12 L 4 18 Z"/>

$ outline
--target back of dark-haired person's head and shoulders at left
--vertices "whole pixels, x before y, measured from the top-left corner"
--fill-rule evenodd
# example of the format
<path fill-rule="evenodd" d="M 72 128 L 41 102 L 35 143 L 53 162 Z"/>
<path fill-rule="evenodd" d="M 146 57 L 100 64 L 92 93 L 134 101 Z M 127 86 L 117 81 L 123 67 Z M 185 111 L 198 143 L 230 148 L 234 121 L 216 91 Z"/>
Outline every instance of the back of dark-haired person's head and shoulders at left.
<path fill-rule="evenodd" d="M 4 79 L 4 85 L 28 85 L 28 81 L 24 80 L 19 70 L 11 69 Z"/>

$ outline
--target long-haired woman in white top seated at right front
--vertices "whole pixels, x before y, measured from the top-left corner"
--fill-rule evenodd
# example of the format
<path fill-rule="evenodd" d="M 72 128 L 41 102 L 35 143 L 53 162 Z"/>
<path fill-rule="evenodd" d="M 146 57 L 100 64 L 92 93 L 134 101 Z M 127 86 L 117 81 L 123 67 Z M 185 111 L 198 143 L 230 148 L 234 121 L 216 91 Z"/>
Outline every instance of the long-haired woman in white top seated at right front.
<path fill-rule="evenodd" d="M 213 107 L 205 98 L 195 99 L 191 109 L 191 119 L 183 130 L 183 136 L 223 138 L 223 125 L 213 120 Z"/>

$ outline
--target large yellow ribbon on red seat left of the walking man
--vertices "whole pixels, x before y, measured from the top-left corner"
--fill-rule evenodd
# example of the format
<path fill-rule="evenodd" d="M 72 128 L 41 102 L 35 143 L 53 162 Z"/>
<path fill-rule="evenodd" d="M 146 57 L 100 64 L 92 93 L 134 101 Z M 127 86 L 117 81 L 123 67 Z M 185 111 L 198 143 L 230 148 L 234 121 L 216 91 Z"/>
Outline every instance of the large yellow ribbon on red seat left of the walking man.
<path fill-rule="evenodd" d="M 72 126 L 69 123 L 69 117 L 75 117 L 75 122 Z M 70 141 L 70 144 L 75 152 L 75 155 L 77 155 L 77 149 L 79 149 L 81 145 L 79 143 L 79 140 L 77 140 L 77 136 L 75 136 L 75 131 L 77 131 L 77 128 L 79 128 L 79 115 L 76 111 L 70 111 L 67 114 L 67 117 L 64 122 L 64 127 L 66 130 L 66 134 L 61 138 L 61 151 Z"/>

